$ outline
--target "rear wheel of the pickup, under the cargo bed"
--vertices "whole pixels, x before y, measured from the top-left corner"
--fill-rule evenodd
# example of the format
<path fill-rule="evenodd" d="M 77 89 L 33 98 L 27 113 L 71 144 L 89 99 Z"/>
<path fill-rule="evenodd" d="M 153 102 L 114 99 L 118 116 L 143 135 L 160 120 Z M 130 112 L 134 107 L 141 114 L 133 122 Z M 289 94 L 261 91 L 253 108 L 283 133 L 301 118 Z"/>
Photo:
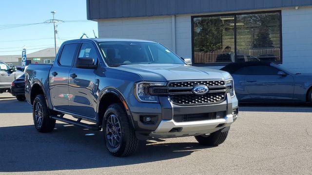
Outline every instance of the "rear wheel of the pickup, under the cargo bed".
<path fill-rule="evenodd" d="M 33 119 L 39 132 L 51 132 L 55 126 L 55 120 L 50 118 L 48 106 L 43 94 L 36 96 L 33 103 Z"/>

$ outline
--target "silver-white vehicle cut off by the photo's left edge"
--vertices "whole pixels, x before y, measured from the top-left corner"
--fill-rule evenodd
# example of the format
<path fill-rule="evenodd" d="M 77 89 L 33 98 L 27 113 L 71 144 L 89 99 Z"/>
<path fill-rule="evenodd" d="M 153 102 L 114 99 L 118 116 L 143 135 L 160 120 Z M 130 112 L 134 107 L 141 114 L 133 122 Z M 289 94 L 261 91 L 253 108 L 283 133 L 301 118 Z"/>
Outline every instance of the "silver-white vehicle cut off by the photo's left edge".
<path fill-rule="evenodd" d="M 10 68 L 0 61 L 0 93 L 10 92 L 12 82 L 19 78 L 24 72 Z"/>

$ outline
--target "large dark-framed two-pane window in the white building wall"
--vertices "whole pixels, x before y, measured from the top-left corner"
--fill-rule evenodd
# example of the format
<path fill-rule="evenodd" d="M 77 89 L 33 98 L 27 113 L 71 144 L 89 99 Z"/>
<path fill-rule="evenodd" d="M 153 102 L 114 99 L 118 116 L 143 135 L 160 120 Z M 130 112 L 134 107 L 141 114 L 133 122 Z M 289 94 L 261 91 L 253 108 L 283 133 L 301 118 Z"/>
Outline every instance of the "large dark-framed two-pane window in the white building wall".
<path fill-rule="evenodd" d="M 281 63 L 280 12 L 192 17 L 193 63 Z"/>

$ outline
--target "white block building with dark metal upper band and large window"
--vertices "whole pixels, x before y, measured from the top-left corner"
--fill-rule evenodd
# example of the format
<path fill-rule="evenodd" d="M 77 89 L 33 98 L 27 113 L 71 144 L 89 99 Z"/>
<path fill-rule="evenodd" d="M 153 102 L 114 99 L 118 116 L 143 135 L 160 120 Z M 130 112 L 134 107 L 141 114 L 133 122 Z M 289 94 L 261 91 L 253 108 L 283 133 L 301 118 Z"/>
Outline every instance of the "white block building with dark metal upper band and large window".
<path fill-rule="evenodd" d="M 312 73 L 312 0 L 87 0 L 98 36 L 159 42 L 194 66 L 273 61 Z"/>

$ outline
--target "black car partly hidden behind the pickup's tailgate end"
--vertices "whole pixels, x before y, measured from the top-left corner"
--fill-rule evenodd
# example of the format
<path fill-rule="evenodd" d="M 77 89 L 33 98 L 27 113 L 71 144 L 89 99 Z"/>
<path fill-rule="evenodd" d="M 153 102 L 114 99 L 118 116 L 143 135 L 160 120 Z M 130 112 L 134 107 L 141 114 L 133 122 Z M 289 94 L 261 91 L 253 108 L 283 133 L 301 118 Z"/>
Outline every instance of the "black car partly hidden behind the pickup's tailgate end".
<path fill-rule="evenodd" d="M 14 80 L 11 84 L 11 94 L 16 96 L 18 101 L 25 101 L 25 74 Z"/>

